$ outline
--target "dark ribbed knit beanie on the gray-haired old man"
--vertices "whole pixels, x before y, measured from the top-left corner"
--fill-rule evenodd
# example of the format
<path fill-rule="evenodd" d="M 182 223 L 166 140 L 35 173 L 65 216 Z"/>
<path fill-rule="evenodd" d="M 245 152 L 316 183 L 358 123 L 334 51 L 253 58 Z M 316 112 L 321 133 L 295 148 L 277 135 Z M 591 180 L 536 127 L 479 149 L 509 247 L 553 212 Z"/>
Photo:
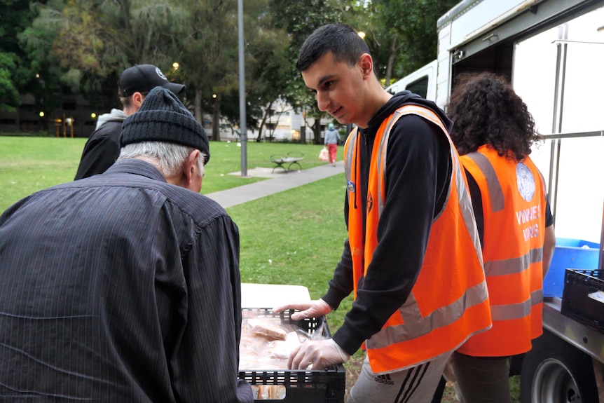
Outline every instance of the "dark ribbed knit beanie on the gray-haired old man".
<path fill-rule="evenodd" d="M 122 125 L 120 146 L 139 142 L 167 142 L 190 146 L 210 160 L 210 146 L 203 126 L 195 121 L 172 91 L 156 87 L 145 97 L 139 111 Z"/>

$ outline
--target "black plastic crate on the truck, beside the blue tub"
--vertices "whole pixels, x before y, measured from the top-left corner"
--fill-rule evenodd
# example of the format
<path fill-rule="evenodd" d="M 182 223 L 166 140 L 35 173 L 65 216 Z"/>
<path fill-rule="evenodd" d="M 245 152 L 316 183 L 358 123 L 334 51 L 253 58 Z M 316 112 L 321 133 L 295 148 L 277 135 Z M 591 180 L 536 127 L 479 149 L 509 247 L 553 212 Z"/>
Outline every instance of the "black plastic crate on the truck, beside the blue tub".
<path fill-rule="evenodd" d="M 604 334 L 604 303 L 588 296 L 604 291 L 599 270 L 566 269 L 561 313 Z"/>

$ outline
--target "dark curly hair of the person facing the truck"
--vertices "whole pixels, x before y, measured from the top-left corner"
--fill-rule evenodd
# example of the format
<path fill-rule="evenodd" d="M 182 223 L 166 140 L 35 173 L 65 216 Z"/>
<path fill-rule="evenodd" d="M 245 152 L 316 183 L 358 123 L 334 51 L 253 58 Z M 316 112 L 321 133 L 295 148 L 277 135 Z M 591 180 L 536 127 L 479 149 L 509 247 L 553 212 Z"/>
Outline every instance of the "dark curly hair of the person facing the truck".
<path fill-rule="evenodd" d="M 460 155 L 487 145 L 500 156 L 523 160 L 541 136 L 521 97 L 498 74 L 460 74 L 451 93 L 447 115 L 451 139 Z"/>

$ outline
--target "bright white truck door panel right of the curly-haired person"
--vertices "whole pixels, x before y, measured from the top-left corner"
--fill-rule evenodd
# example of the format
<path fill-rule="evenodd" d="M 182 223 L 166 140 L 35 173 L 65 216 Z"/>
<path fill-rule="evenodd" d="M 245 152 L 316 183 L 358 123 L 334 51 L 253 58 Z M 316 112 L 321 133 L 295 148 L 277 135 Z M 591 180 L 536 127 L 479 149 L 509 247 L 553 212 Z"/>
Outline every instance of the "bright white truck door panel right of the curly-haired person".
<path fill-rule="evenodd" d="M 604 203 L 604 7 L 514 43 L 512 83 L 547 141 L 556 236 L 600 243 Z"/>

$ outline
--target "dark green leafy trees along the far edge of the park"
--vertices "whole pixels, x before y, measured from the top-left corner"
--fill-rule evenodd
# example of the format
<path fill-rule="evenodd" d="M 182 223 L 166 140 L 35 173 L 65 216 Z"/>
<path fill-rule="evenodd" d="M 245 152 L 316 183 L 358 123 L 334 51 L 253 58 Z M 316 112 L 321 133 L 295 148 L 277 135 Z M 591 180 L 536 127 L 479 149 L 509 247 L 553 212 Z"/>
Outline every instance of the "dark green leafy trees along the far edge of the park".
<path fill-rule="evenodd" d="M 436 56 L 436 21 L 453 4 L 246 0 L 248 126 L 258 128 L 270 104 L 284 100 L 305 111 L 306 125 L 320 129 L 324 114 L 295 69 L 301 44 L 317 27 L 346 22 L 364 31 L 378 78 L 401 77 Z M 0 64 L 0 107 L 15 107 L 18 90 L 45 108 L 62 92 L 109 109 L 118 102 L 121 71 L 150 63 L 186 83 L 184 101 L 199 121 L 212 109 L 238 125 L 237 6 L 235 0 L 0 0 L 0 54 L 12 60 Z"/>

